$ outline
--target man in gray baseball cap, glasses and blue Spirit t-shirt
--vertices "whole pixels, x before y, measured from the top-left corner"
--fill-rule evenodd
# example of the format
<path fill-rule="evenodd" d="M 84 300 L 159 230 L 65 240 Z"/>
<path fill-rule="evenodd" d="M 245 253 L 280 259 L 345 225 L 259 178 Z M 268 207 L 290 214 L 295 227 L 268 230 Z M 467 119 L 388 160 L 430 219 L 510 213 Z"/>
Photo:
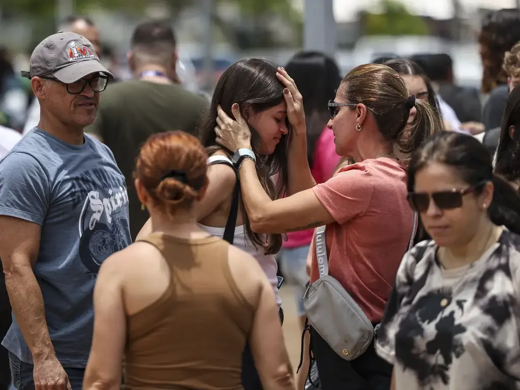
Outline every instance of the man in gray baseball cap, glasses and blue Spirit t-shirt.
<path fill-rule="evenodd" d="M 83 36 L 59 32 L 28 72 L 40 122 L 0 161 L 0 258 L 13 323 L 2 342 L 18 390 L 81 389 L 97 271 L 131 243 L 125 178 L 84 127 L 113 76 Z"/>

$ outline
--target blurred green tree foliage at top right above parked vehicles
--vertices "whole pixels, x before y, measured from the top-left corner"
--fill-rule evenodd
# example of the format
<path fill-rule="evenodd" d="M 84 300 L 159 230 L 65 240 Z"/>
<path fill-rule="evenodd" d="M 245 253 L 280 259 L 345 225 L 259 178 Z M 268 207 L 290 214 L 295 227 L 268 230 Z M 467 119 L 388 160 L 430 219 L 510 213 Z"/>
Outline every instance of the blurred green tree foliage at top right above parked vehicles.
<path fill-rule="evenodd" d="M 381 0 L 383 12 L 372 14 L 366 12 L 363 33 L 365 35 L 427 35 L 426 22 L 408 11 L 406 6 L 397 0 Z"/>

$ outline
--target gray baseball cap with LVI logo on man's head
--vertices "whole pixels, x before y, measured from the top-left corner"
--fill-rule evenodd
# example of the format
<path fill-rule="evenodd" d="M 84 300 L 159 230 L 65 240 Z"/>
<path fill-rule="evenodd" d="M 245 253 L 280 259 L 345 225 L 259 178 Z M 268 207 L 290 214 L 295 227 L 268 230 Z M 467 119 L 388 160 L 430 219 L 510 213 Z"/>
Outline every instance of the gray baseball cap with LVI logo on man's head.
<path fill-rule="evenodd" d="M 34 49 L 29 62 L 29 72 L 22 77 L 54 76 L 62 83 L 74 83 L 88 74 L 101 72 L 114 78 L 99 62 L 92 43 L 72 32 L 60 31 L 45 38 Z"/>

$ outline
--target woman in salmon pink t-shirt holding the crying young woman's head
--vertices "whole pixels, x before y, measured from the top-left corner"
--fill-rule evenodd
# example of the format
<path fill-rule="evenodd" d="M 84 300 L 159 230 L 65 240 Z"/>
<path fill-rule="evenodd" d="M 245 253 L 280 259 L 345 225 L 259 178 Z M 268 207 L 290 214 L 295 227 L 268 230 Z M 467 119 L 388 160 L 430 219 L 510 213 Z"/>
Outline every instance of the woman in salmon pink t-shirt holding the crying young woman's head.
<path fill-rule="evenodd" d="M 287 107 L 291 119 L 300 96 L 292 85 L 284 93 L 294 96 Z M 329 108 L 328 127 L 335 136 L 336 152 L 353 157 L 356 163 L 314 188 L 302 185 L 300 192 L 272 201 L 258 180 L 253 160 L 242 158 L 237 164 L 242 199 L 254 231 L 288 232 L 327 225 L 329 274 L 377 324 L 413 228 L 413 212 L 406 200 L 406 162 L 396 159 L 394 146 L 410 153 L 440 123 L 427 102 L 409 95 L 394 70 L 379 64 L 351 70 Z M 415 111 L 415 121 L 408 128 L 410 110 Z M 249 127 L 240 112 L 233 115 L 236 120 L 222 118 L 216 129 L 222 137 L 217 141 L 231 151 L 250 149 Z M 317 278 L 314 258 L 311 282 Z M 314 330 L 311 342 L 323 390 L 390 387 L 392 367 L 375 354 L 373 345 L 347 361 Z"/>

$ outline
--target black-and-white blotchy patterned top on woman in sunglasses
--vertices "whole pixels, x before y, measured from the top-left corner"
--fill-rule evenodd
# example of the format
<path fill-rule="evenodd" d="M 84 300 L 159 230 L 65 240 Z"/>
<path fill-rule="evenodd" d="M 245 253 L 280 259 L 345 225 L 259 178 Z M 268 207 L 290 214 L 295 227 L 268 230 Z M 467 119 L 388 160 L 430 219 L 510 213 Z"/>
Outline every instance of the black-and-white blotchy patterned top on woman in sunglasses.
<path fill-rule="evenodd" d="M 397 272 L 376 352 L 397 390 L 520 389 L 520 236 L 504 228 L 475 263 L 445 269 L 433 241 Z"/>

